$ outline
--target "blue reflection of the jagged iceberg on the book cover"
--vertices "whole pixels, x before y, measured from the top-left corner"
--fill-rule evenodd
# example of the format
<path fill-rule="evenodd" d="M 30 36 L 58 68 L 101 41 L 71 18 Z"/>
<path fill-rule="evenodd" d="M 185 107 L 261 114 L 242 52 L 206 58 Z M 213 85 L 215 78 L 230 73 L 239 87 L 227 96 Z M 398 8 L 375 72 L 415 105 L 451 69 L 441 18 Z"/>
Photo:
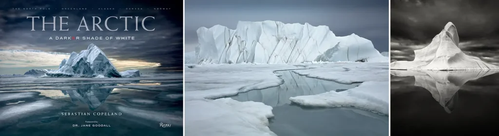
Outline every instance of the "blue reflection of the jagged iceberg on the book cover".
<path fill-rule="evenodd" d="M 116 86 L 116 83 L 93 83 L 83 84 L 75 90 L 62 90 L 62 93 L 68 94 L 71 101 L 81 101 L 88 104 L 91 110 L 97 109 L 100 104 L 104 103 L 107 96 L 111 94 L 113 88 L 98 88 L 101 86 Z"/>

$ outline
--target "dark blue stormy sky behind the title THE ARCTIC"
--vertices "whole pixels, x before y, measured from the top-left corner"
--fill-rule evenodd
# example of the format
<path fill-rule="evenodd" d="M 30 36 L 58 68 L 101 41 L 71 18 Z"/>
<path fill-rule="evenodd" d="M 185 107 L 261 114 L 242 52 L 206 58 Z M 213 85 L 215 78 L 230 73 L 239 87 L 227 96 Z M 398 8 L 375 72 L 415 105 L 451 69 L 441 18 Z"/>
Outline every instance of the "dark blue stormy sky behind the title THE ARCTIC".
<path fill-rule="evenodd" d="M 40 9 L 12 9 L 24 7 L 44 7 Z M 87 10 L 64 10 L 61 8 L 87 8 Z M 94 8 L 94 9 L 91 9 Z M 114 8 L 98 10 L 97 8 Z M 120 9 L 121 8 L 121 9 Z M 142 8 L 141 10 L 126 10 L 125 8 Z M 149 8 L 149 9 L 147 9 Z M 155 10 L 153 8 L 170 8 Z M 35 30 L 31 30 L 31 19 L 26 16 L 46 16 L 47 22 L 52 22 L 52 16 L 69 16 L 64 21 L 69 31 L 52 31 L 52 24 L 45 24 L 46 31 L 41 31 L 42 21 L 35 19 Z M 92 30 L 92 17 L 100 16 L 100 26 L 103 31 L 77 31 L 82 16 Z M 108 16 L 140 16 L 139 31 L 135 31 L 135 19 L 128 20 L 129 31 L 123 31 L 124 19 L 110 18 L 109 31 L 104 26 Z M 145 16 L 146 28 L 142 29 L 141 20 Z M 56 29 L 59 29 L 59 18 L 56 18 Z M 158 62 L 163 66 L 179 66 L 183 64 L 183 3 L 182 0 L 2 0 L 0 2 L 0 48 L 1 49 L 36 49 L 54 52 L 79 52 L 88 44 L 99 46 L 110 58 L 118 60 L 138 60 Z M 55 40 L 50 36 L 135 36 L 135 40 Z"/>

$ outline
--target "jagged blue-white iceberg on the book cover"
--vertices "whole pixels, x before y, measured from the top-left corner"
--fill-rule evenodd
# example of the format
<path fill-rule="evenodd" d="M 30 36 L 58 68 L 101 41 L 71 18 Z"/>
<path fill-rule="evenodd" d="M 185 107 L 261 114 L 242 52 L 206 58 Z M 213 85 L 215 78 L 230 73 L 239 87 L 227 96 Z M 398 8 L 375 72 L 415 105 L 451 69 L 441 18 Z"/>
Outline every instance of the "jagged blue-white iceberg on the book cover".
<path fill-rule="evenodd" d="M 134 76 L 135 72 L 139 72 L 135 70 L 122 73 Z M 106 54 L 92 43 L 80 53 L 72 52 L 68 59 L 61 61 L 58 70 L 48 71 L 44 77 L 122 77 L 122 75 L 109 61 Z"/>

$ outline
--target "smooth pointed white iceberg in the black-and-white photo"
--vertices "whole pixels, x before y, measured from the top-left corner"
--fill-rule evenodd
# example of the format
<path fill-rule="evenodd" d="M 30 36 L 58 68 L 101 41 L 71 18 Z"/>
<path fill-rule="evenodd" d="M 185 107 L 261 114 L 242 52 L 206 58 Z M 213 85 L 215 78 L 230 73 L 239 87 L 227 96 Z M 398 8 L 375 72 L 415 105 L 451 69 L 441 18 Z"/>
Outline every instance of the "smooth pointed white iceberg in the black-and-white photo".
<path fill-rule="evenodd" d="M 463 53 L 459 48 L 457 28 L 452 22 L 448 22 L 428 46 L 414 50 L 414 53 L 416 56 L 413 61 L 394 61 L 390 63 L 391 69 L 499 69 L 498 66 L 486 63 L 479 57 Z"/>

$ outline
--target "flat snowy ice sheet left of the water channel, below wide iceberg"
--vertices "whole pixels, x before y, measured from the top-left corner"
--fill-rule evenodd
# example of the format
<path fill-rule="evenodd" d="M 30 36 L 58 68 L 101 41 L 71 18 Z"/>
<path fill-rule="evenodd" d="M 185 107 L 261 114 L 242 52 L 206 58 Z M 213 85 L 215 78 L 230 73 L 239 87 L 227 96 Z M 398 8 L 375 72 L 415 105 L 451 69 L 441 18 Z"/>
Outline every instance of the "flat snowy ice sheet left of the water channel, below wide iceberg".
<path fill-rule="evenodd" d="M 298 69 L 292 64 L 209 64 L 185 70 L 185 99 L 220 98 L 282 84 L 274 70 Z"/>

